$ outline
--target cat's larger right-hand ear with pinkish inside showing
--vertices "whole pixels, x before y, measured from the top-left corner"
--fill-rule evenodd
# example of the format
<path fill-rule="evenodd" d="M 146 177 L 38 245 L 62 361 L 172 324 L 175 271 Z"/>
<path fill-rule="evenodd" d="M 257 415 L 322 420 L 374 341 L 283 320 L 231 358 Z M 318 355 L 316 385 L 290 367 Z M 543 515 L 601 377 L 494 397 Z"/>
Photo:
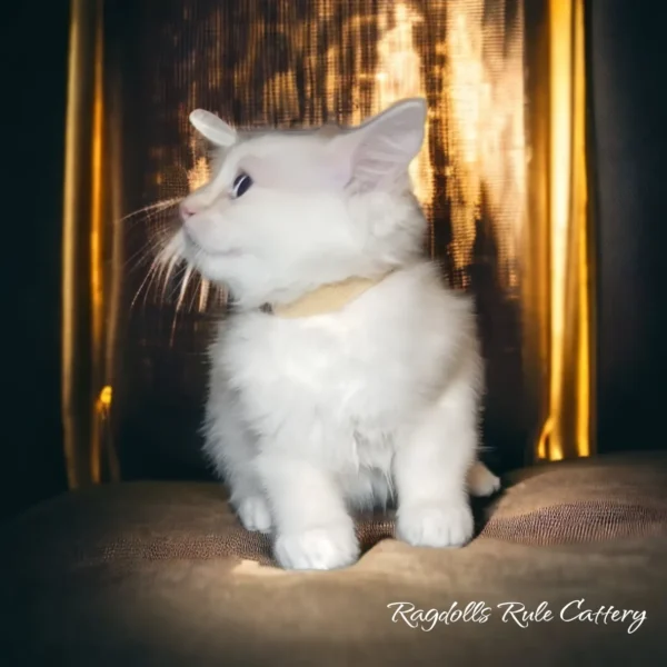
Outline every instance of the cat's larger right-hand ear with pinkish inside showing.
<path fill-rule="evenodd" d="M 390 188 L 404 176 L 424 142 L 424 98 L 399 101 L 335 139 L 339 169 L 361 189 Z"/>

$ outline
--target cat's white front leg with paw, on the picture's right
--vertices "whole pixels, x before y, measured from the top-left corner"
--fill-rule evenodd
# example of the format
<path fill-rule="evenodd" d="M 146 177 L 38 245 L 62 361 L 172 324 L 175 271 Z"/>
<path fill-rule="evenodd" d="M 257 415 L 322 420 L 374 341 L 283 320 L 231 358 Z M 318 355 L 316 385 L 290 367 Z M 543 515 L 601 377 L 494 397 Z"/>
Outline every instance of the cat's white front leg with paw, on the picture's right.
<path fill-rule="evenodd" d="M 458 547 L 472 537 L 467 476 L 477 455 L 477 368 L 461 369 L 395 456 L 397 536 Z"/>

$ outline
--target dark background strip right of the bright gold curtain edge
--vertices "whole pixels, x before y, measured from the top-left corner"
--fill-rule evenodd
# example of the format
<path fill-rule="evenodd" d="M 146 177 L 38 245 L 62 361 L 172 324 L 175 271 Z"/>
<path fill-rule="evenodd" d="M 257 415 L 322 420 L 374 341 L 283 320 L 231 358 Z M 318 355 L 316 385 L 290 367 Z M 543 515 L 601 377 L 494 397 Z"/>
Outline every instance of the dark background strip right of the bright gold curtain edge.
<path fill-rule="evenodd" d="M 594 0 L 588 10 L 599 219 L 599 449 L 664 449 L 666 12 L 631 0 Z"/>

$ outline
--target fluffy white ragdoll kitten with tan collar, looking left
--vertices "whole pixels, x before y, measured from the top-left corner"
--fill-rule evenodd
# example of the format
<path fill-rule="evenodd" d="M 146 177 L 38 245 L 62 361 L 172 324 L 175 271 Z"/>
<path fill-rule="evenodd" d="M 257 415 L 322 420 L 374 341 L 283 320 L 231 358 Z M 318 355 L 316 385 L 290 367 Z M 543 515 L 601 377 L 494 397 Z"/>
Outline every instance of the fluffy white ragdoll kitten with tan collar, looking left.
<path fill-rule="evenodd" d="M 356 128 L 237 132 L 197 110 L 219 149 L 163 257 L 225 283 L 235 312 L 210 349 L 206 454 L 249 530 L 285 568 L 352 564 L 350 511 L 398 501 L 397 535 L 456 547 L 480 462 L 471 302 L 422 257 L 408 166 L 426 103 Z"/>

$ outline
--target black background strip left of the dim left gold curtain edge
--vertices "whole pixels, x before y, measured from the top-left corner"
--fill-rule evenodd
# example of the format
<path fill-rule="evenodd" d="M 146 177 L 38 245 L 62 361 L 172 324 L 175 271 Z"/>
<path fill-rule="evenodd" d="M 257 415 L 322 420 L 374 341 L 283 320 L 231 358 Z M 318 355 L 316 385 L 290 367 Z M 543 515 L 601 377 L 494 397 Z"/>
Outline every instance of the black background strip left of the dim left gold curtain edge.
<path fill-rule="evenodd" d="M 69 3 L 12 2 L 0 20 L 4 173 L 0 516 L 66 488 L 60 248 Z"/>

